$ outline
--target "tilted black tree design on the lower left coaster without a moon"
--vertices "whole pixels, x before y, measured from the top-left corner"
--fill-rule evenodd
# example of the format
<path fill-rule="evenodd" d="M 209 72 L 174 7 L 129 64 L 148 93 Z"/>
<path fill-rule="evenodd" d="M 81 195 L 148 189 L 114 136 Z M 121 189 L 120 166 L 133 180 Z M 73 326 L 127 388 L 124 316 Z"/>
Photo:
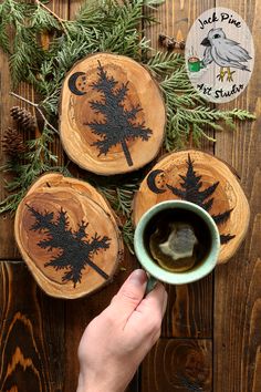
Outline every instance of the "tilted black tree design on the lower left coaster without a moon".
<path fill-rule="evenodd" d="M 53 267 L 56 270 L 66 269 L 62 280 L 72 280 L 74 287 L 81 282 L 82 271 L 86 266 L 92 267 L 104 279 L 108 279 L 98 266 L 96 266 L 92 259 L 98 252 L 98 250 L 106 250 L 109 248 L 109 238 L 106 236 L 98 236 L 97 233 L 88 239 L 86 234 L 86 227 L 88 224 L 82 221 L 79 225 L 79 229 L 73 231 L 69 227 L 67 214 L 61 208 L 58 219 L 53 221 L 53 213 L 40 213 L 32 206 L 27 205 L 35 218 L 35 223 L 31 226 L 30 230 L 39 231 L 48 235 L 46 239 L 38 243 L 38 246 L 48 251 L 52 251 L 53 248 L 61 249 L 59 256 L 51 258 L 49 262 L 44 264 L 44 267 Z"/>

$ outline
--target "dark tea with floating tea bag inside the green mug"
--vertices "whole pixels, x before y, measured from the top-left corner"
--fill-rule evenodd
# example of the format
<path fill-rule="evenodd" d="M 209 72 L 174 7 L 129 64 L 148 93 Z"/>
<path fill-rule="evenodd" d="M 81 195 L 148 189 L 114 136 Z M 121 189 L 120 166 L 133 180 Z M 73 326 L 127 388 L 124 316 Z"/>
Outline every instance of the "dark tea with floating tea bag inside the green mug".
<path fill-rule="evenodd" d="M 182 208 L 156 214 L 144 231 L 148 254 L 161 268 L 185 272 L 207 257 L 211 233 L 197 214 Z"/>

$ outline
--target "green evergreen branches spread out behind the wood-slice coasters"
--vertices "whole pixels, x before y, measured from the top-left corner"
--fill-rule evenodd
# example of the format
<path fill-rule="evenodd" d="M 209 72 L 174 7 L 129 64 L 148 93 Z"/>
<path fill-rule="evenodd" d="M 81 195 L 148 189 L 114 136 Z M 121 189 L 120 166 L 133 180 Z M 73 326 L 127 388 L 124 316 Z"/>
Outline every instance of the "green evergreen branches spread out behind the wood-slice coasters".
<path fill-rule="evenodd" d="M 247 111 L 221 111 L 205 102 L 192 87 L 180 54 L 150 54 L 150 43 L 143 37 L 142 27 L 154 22 L 149 9 L 161 2 L 88 0 L 81 6 L 74 20 L 63 20 L 46 8 L 45 0 L 2 0 L 0 45 L 9 54 L 13 85 L 27 82 L 34 87 L 40 95 L 38 110 L 44 113 L 46 121 L 41 136 L 28 142 L 30 151 L 24 162 L 10 161 L 2 168 L 12 172 L 13 178 L 6 184 L 10 195 L 1 202 L 0 213 L 14 212 L 28 187 L 42 173 L 51 169 L 70 175 L 66 167 L 58 165 L 58 157 L 51 152 L 55 135 L 51 124 L 58 123 L 59 99 L 66 73 L 77 60 L 90 53 L 109 51 L 128 55 L 150 70 L 166 102 L 167 151 L 184 147 L 190 136 L 196 145 L 202 137 L 212 140 L 206 132 L 209 127 L 221 130 L 221 124 L 233 127 L 234 120 L 254 118 Z M 44 48 L 41 38 L 48 33 L 50 43 Z M 218 121 L 221 123 L 217 124 Z M 132 244 L 132 199 L 138 179 L 128 178 L 128 182 L 123 184 L 121 178 L 112 187 L 112 179 L 108 185 L 100 177 L 96 186 L 124 217 L 123 236 L 127 244 Z"/>

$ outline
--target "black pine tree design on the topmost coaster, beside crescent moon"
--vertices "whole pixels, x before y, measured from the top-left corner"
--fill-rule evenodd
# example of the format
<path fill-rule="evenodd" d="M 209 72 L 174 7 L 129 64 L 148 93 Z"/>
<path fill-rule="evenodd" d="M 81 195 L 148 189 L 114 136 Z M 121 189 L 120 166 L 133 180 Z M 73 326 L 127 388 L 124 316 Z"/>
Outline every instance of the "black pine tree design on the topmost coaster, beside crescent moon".
<path fill-rule="evenodd" d="M 128 166 L 133 166 L 126 142 L 137 137 L 142 141 L 148 141 L 152 130 L 145 126 L 145 122 L 138 123 L 136 120 L 137 113 L 143 110 L 140 105 L 134 105 L 130 110 L 124 109 L 124 101 L 128 93 L 128 82 L 122 83 L 116 89 L 118 82 L 113 76 L 108 76 L 100 61 L 97 74 L 98 80 L 92 84 L 92 89 L 102 93 L 103 100 L 91 101 L 90 105 L 95 113 L 104 115 L 104 121 L 94 121 L 84 125 L 88 125 L 94 134 L 102 137 L 92 144 L 98 148 L 98 155 L 106 155 L 111 147 L 121 143 Z"/>

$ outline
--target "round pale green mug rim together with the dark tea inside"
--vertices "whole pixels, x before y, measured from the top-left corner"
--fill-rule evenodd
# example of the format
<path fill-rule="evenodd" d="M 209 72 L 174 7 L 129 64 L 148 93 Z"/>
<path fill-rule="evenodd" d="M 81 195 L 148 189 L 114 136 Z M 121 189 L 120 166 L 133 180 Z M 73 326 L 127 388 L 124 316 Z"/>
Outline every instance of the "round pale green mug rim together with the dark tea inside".
<path fill-rule="evenodd" d="M 135 230 L 135 252 L 158 280 L 188 283 L 217 264 L 220 237 L 211 216 L 196 204 L 163 202 L 146 212 Z"/>

